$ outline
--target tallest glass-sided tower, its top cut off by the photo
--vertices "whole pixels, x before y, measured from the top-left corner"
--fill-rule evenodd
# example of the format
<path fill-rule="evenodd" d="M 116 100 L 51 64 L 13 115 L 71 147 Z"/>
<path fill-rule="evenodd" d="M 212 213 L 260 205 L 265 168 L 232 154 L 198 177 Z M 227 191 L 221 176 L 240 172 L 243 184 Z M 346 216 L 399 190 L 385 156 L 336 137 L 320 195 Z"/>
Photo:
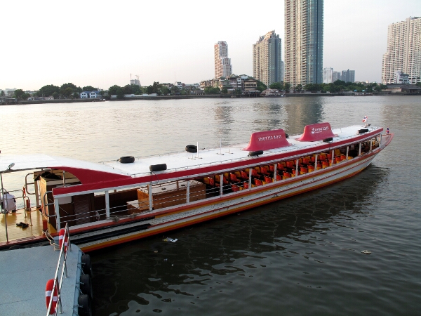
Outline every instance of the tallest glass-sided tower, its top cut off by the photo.
<path fill-rule="evenodd" d="M 323 0 L 285 0 L 285 82 L 323 82 Z"/>

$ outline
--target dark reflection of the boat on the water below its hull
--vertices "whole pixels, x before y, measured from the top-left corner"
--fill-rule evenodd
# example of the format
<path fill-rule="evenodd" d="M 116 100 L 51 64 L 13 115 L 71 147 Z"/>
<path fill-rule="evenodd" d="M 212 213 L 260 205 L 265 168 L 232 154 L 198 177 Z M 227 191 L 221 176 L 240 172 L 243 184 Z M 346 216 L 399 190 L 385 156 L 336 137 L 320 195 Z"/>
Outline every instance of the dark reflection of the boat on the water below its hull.
<path fill-rule="evenodd" d="M 388 174 L 368 166 L 321 190 L 172 232 L 176 243 L 159 236 L 95 251 L 96 309 L 101 315 L 155 309 L 176 313 L 181 305 L 200 302 L 204 308 L 203 302 L 213 299 L 227 300 L 220 307 L 227 308 L 231 284 L 237 289 L 239 282 L 264 283 L 267 293 L 277 290 L 277 282 L 303 282 L 290 279 L 296 269 L 309 269 L 298 260 L 330 265 L 330 251 L 339 245 L 329 236 L 338 229 L 354 230 L 359 218 L 371 216 L 370 203 L 380 202 L 377 190 Z M 360 251 L 349 244 L 343 248 Z M 267 274 L 272 264 L 279 272 Z M 303 273 L 319 273 L 317 268 Z M 259 281 L 245 279 L 253 276 Z"/>

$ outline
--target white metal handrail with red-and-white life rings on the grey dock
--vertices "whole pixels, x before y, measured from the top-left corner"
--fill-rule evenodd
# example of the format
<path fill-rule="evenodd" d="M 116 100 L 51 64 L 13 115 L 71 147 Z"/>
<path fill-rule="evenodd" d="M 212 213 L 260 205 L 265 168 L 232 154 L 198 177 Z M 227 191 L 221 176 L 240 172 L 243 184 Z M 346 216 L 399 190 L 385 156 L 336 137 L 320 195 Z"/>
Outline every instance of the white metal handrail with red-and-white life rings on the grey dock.
<path fill-rule="evenodd" d="M 70 243 L 70 235 L 69 235 L 69 225 L 66 224 L 65 228 L 63 228 L 64 234 L 61 234 L 60 231 L 60 238 L 62 238 L 62 242 L 59 243 L 60 245 L 60 254 L 58 255 L 58 263 L 57 267 L 55 268 L 55 275 L 54 275 L 54 283 L 53 289 L 51 291 L 46 291 L 46 296 L 50 296 L 50 303 L 47 307 L 47 316 L 48 315 L 57 315 L 58 312 L 60 314 L 63 313 L 62 308 L 62 298 L 61 298 L 61 288 L 63 279 L 67 276 L 67 251 L 72 251 L 71 243 Z M 61 270 L 61 273 L 60 273 Z M 60 279 L 59 279 L 60 276 Z M 48 284 L 48 282 L 47 282 Z M 53 305 L 55 306 L 55 310 L 51 310 Z"/>

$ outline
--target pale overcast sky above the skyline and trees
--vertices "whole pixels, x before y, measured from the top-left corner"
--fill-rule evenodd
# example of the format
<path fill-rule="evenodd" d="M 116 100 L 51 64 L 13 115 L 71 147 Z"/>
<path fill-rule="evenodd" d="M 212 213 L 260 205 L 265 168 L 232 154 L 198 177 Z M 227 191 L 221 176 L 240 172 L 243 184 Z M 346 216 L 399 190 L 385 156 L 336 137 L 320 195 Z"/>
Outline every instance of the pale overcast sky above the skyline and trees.
<path fill-rule="evenodd" d="M 193 84 L 213 78 L 218 41 L 227 41 L 234 74 L 253 75 L 252 46 L 261 35 L 274 29 L 283 46 L 283 6 L 281 0 L 2 2 L 0 88 L 72 82 L 107 89 L 128 84 L 131 73 L 142 86 Z M 420 15 L 421 0 L 325 0 L 323 67 L 380 82 L 387 25 Z"/>

